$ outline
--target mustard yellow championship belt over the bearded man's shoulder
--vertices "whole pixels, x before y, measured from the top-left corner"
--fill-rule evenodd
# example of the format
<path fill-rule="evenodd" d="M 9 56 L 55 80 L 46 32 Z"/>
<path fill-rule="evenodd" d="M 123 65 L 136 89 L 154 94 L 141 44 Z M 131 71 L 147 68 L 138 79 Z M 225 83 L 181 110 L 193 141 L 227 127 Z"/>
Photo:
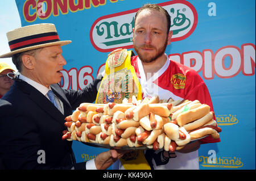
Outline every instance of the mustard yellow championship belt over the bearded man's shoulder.
<path fill-rule="evenodd" d="M 131 56 L 134 56 L 132 50 L 122 49 L 108 57 L 105 75 L 98 89 L 97 104 L 122 103 L 123 99 L 129 99 L 133 95 L 137 100 L 142 99 L 141 85 L 131 65 Z M 126 170 L 150 170 L 143 150 L 131 151 L 120 161 Z"/>

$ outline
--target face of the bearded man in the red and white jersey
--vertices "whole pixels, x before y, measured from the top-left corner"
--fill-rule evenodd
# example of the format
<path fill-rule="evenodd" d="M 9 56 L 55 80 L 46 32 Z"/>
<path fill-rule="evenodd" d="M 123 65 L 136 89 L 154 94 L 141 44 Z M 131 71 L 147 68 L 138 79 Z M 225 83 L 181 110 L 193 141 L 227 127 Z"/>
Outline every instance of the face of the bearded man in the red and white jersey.
<path fill-rule="evenodd" d="M 166 17 L 158 11 L 141 11 L 135 22 L 133 41 L 141 61 L 152 62 L 163 57 L 168 44 Z"/>

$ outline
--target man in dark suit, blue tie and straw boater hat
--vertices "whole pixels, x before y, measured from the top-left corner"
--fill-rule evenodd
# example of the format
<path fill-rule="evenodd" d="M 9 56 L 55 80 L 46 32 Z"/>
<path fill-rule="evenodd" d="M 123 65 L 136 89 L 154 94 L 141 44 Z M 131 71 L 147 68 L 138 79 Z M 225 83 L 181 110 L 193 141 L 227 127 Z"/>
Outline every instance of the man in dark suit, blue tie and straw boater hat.
<path fill-rule="evenodd" d="M 88 162 L 76 163 L 72 141 L 61 140 L 66 116 L 97 95 L 95 79 L 83 90 L 63 90 L 57 84 L 67 63 L 54 24 L 34 24 L 7 32 L 20 72 L 0 103 L 0 158 L 5 169 L 106 169 L 122 156 L 109 150 Z"/>

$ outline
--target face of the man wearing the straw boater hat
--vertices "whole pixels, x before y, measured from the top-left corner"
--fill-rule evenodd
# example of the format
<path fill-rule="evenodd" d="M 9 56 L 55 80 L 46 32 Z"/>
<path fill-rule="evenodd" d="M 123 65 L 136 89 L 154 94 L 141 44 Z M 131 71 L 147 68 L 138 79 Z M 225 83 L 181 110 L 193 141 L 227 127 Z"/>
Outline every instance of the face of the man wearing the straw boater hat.
<path fill-rule="evenodd" d="M 61 80 L 63 66 L 67 64 L 62 56 L 60 45 L 42 48 L 34 56 L 35 66 L 33 70 L 36 82 L 48 87 Z"/>

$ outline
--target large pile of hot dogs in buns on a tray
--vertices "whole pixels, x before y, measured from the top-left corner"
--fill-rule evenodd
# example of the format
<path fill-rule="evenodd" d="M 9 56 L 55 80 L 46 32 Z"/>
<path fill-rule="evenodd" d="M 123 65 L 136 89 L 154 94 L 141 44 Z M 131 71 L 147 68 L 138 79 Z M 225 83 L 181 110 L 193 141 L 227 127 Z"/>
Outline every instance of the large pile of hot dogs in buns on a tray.
<path fill-rule="evenodd" d="M 212 135 L 219 138 L 207 104 L 198 100 L 168 102 L 151 99 L 124 99 L 122 104 L 82 103 L 65 118 L 63 140 L 77 140 L 113 147 L 147 146 L 154 150 L 175 151 L 192 140 Z"/>

